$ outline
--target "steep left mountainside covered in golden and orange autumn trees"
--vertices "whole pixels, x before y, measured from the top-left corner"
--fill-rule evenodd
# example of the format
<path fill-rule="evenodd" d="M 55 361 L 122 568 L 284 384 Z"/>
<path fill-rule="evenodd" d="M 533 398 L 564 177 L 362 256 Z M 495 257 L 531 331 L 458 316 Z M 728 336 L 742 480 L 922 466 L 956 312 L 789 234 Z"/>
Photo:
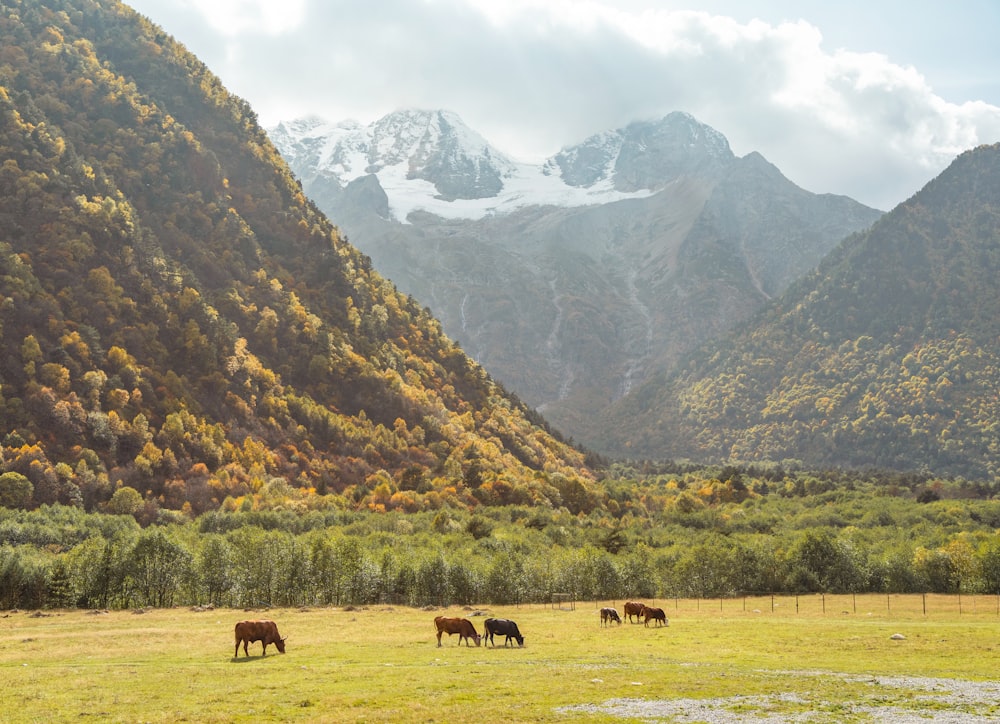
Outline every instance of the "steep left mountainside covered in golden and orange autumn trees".
<path fill-rule="evenodd" d="M 0 9 L 0 502 L 586 493 L 181 45 L 117 2 Z"/>

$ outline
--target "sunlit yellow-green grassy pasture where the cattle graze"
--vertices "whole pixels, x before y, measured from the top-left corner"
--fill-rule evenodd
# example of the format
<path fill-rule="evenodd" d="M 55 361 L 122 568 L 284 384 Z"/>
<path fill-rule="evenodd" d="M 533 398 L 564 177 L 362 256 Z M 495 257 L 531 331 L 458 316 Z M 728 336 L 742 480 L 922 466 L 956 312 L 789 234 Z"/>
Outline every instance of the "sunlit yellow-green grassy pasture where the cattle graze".
<path fill-rule="evenodd" d="M 953 721 L 1000 718 L 993 597 L 658 602 L 667 628 L 598 607 L 372 606 L 0 612 L 8 722 Z M 961 608 L 959 608 L 959 605 Z M 926 610 L 926 613 L 925 613 Z M 516 620 L 524 648 L 436 646 L 433 618 Z M 233 626 L 271 618 L 287 653 Z M 893 634 L 905 638 L 893 639 Z M 645 708 L 644 708 L 645 707 Z M 910 716 L 912 719 L 907 719 Z M 978 717 L 978 719 L 976 718 Z M 926 721 L 926 720 L 925 720 Z"/>

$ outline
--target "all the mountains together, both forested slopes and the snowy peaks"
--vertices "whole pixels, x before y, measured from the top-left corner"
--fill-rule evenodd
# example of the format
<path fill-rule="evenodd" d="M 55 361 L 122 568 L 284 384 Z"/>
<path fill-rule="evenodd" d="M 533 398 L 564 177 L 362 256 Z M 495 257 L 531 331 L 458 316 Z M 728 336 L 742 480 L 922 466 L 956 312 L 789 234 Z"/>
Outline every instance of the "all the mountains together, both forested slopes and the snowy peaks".
<path fill-rule="evenodd" d="M 0 505 L 595 511 L 557 429 L 664 467 L 1000 471 L 1000 146 L 888 214 L 682 113 L 536 165 L 443 112 L 312 121 L 299 151 L 339 160 L 293 173 L 121 3 L 5 8 Z"/>

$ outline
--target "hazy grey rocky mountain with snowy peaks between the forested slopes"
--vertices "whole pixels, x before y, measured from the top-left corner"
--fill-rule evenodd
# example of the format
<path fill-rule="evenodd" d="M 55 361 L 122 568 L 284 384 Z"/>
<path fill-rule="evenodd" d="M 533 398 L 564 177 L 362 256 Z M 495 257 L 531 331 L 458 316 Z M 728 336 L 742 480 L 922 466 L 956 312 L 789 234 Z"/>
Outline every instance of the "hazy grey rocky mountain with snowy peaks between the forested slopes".
<path fill-rule="evenodd" d="M 516 162 L 445 111 L 269 130 L 374 266 L 558 429 L 745 322 L 881 213 L 809 193 L 685 113 Z"/>

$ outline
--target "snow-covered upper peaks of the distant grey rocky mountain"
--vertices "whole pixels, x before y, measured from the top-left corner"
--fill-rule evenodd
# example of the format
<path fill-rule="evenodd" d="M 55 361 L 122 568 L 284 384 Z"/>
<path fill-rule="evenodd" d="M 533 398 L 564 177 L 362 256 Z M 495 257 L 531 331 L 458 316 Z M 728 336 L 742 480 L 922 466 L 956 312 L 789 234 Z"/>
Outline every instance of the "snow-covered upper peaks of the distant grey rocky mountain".
<path fill-rule="evenodd" d="M 514 161 L 443 110 L 400 110 L 367 126 L 302 118 L 280 123 L 271 138 L 296 173 L 308 169 L 341 188 L 376 176 L 400 221 L 416 210 L 475 219 L 649 196 L 734 158 L 721 133 L 686 113 L 596 134 L 542 164 Z"/>

